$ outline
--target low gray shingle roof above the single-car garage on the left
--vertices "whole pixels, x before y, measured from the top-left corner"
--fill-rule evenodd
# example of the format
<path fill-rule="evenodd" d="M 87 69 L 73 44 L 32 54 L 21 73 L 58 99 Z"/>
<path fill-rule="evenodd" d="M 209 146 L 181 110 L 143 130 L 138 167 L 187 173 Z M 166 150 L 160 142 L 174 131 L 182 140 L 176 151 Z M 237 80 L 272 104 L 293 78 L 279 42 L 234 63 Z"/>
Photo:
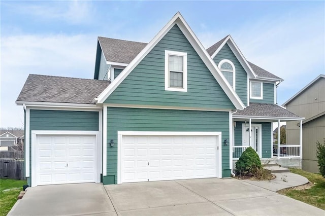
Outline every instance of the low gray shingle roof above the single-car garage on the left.
<path fill-rule="evenodd" d="M 29 75 L 16 103 L 33 101 L 94 104 L 93 99 L 109 84 L 109 81 L 101 80 Z"/>

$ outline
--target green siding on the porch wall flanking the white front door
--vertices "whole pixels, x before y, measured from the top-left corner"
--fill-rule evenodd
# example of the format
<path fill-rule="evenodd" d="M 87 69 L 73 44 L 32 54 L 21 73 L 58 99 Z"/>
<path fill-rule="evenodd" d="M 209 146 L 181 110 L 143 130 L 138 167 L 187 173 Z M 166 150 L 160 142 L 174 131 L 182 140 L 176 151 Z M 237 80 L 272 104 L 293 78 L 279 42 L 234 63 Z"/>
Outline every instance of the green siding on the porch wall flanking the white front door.
<path fill-rule="evenodd" d="M 243 145 L 243 127 L 245 122 L 236 122 L 235 146 Z M 262 158 L 272 157 L 271 143 L 271 122 L 252 122 L 252 124 L 262 124 Z"/>

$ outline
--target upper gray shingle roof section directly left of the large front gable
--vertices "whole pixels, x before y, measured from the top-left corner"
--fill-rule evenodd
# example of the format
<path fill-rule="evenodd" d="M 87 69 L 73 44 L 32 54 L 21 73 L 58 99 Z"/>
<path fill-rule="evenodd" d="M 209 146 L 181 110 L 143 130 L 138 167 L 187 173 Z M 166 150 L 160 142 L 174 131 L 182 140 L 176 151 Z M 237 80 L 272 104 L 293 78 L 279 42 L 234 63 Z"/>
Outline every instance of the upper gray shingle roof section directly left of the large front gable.
<path fill-rule="evenodd" d="M 98 37 L 106 61 L 130 63 L 147 43 Z"/>

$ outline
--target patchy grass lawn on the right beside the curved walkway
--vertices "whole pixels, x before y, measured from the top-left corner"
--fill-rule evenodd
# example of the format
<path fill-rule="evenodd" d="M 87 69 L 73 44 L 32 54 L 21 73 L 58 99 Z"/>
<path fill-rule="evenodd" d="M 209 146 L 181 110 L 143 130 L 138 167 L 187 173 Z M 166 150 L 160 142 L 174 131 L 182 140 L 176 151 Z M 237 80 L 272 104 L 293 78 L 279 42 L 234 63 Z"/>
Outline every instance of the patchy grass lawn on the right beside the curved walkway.
<path fill-rule="evenodd" d="M 325 178 L 320 174 L 306 172 L 301 169 L 290 170 L 293 173 L 305 176 L 314 186 L 304 190 L 284 189 L 279 193 L 325 210 Z"/>

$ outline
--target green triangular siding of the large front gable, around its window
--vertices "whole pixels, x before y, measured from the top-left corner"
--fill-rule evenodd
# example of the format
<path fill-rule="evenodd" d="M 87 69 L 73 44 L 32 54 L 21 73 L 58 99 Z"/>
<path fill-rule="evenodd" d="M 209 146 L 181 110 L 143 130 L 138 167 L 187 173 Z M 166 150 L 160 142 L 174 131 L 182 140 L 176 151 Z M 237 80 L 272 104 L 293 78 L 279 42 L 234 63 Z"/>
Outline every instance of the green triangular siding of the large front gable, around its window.
<path fill-rule="evenodd" d="M 165 50 L 187 53 L 187 92 L 165 91 Z M 143 58 L 105 103 L 235 109 L 177 25 Z"/>

